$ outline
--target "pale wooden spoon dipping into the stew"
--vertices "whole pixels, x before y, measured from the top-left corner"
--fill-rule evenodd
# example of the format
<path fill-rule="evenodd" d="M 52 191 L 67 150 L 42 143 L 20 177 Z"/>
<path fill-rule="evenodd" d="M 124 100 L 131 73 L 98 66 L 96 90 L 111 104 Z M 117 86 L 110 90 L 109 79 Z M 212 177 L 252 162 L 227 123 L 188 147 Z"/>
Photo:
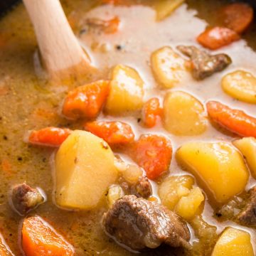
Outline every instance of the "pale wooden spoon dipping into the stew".
<path fill-rule="evenodd" d="M 36 32 L 48 75 L 53 80 L 78 79 L 91 69 L 59 0 L 23 0 Z"/>

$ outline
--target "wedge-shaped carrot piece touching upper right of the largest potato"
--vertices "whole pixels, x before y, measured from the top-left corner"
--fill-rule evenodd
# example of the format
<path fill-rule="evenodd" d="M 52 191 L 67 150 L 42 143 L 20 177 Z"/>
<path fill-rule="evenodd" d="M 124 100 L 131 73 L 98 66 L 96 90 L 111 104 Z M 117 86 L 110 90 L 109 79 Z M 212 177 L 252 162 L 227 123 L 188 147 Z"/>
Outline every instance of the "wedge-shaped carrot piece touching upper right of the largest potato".
<path fill-rule="evenodd" d="M 110 146 L 122 146 L 134 141 L 132 127 L 124 122 L 87 122 L 85 129 L 104 139 Z"/>

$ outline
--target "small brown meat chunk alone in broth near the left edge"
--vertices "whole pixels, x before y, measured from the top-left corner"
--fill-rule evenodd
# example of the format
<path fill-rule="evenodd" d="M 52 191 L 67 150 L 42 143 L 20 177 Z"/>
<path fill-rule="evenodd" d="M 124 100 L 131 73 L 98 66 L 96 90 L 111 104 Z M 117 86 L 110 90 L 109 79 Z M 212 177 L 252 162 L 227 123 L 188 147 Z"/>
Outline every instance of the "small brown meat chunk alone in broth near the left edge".
<path fill-rule="evenodd" d="M 31 188 L 26 183 L 14 186 L 11 192 L 12 206 L 20 215 L 26 215 L 26 213 L 43 203 L 44 200 L 38 189 Z"/>

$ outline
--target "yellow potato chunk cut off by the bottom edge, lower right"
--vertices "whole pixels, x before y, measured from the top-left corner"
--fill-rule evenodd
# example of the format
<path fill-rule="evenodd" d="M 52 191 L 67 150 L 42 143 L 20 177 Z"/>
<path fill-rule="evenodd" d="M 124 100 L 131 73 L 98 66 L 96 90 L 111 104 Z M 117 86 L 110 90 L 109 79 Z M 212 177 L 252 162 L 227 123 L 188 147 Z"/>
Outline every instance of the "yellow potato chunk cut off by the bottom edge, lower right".
<path fill-rule="evenodd" d="M 218 239 L 211 256 L 253 256 L 250 234 L 237 228 L 227 228 Z"/>

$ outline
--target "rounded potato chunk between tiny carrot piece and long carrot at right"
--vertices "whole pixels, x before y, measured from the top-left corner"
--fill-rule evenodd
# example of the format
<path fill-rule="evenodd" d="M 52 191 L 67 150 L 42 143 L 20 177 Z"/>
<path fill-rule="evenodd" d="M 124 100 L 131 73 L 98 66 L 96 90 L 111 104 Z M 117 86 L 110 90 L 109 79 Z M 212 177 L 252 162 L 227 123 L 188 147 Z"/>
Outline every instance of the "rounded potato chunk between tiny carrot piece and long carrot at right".
<path fill-rule="evenodd" d="M 164 127 L 180 136 L 198 135 L 206 131 L 203 105 L 186 92 L 169 92 L 164 99 Z"/>

